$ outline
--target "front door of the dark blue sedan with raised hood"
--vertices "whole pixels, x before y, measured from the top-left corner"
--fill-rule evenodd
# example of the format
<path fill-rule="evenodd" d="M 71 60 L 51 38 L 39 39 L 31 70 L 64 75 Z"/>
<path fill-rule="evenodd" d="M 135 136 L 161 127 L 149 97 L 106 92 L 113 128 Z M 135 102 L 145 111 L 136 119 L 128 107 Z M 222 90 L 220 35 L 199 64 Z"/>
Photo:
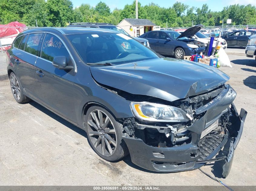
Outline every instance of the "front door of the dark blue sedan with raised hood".
<path fill-rule="evenodd" d="M 173 41 L 166 40 L 167 38 L 171 39 L 171 37 L 169 37 L 167 33 L 162 31 L 158 32 L 158 52 L 161 54 L 171 55 L 171 53 L 173 52 Z"/>

